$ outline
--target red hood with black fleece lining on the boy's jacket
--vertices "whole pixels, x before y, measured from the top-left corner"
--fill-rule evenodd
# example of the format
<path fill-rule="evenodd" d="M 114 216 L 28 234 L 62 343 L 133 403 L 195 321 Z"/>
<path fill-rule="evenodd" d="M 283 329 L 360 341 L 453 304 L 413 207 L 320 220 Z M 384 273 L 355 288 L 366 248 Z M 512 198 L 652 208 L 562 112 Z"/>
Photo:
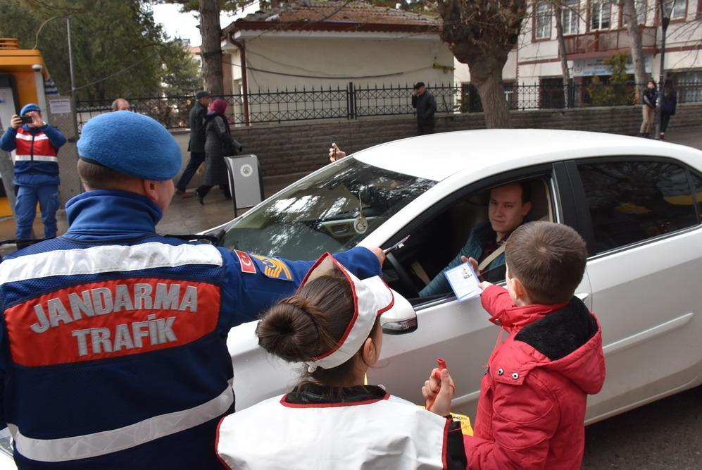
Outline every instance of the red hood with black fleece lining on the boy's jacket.
<path fill-rule="evenodd" d="M 547 307 L 547 306 L 544 306 Z M 605 381 L 602 329 L 594 314 L 577 297 L 522 328 L 514 337 L 515 361 L 527 369 L 543 367 L 594 395 Z M 523 371 L 522 373 L 527 372 Z"/>

